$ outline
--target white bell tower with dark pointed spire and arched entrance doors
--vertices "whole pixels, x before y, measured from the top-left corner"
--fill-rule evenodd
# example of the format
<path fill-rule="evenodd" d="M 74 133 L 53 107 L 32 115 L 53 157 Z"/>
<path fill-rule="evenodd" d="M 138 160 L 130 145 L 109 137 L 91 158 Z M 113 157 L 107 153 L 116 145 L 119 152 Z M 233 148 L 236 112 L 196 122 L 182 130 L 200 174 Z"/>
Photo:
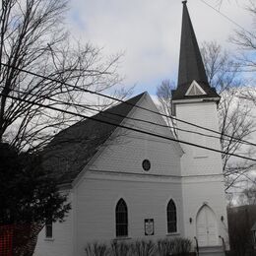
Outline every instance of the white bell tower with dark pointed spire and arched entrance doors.
<path fill-rule="evenodd" d="M 187 123 L 177 121 L 177 135 L 179 140 L 221 150 L 218 135 L 198 127 L 219 131 L 217 106 L 221 97 L 208 82 L 186 3 L 182 2 L 178 82 L 172 92 L 172 112 Z M 228 234 L 222 156 L 189 145 L 181 147 L 185 236 L 198 243 L 204 255 L 224 255 Z"/>

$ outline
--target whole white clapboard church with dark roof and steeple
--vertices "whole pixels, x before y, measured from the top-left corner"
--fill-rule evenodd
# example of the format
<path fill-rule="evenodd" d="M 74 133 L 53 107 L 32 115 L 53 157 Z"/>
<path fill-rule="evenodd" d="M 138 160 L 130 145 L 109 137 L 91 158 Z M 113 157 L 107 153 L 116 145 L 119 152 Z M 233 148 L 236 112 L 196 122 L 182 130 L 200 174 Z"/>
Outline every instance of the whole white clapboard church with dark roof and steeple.
<path fill-rule="evenodd" d="M 221 143 L 189 124 L 218 131 L 219 101 L 208 83 L 184 1 L 178 82 L 172 94 L 173 115 L 183 120 L 176 121 L 177 138 L 148 93 L 57 134 L 48 145 L 45 166 L 60 177 L 72 210 L 64 223 L 45 225 L 34 256 L 82 256 L 88 242 L 166 237 L 189 238 L 202 255 L 224 255 L 228 234 L 222 156 L 191 145 L 220 151 Z"/>

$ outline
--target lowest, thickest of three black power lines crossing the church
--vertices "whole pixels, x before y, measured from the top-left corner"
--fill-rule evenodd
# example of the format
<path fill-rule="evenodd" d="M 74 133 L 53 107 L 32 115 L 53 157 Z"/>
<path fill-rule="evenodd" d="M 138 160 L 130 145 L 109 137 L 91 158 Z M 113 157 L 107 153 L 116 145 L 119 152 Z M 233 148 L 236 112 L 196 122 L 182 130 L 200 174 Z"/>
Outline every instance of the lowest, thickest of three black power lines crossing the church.
<path fill-rule="evenodd" d="M 4 96 L 2 93 L 0 95 Z M 32 102 L 31 100 L 22 99 L 22 98 L 19 98 L 17 96 L 7 96 L 7 97 L 10 97 L 10 98 L 13 98 L 13 99 L 16 99 L 16 100 L 20 100 L 20 101 L 24 101 L 24 102 L 27 102 L 27 103 L 31 103 L 33 105 L 37 105 L 37 106 L 40 106 L 40 107 L 52 109 L 52 110 L 55 110 L 55 111 L 60 111 L 60 112 L 64 112 L 64 113 L 68 113 L 68 114 L 72 114 L 72 115 L 76 115 L 76 116 L 80 116 L 80 117 L 83 117 L 83 118 L 91 119 L 91 120 L 94 120 L 96 122 L 100 122 L 100 123 L 104 123 L 104 124 L 108 124 L 108 125 L 114 125 L 115 127 L 124 128 L 126 130 L 131 130 L 131 131 L 135 131 L 135 132 L 138 132 L 138 133 L 151 135 L 151 136 L 154 136 L 154 137 L 157 137 L 157 138 L 160 138 L 160 139 L 164 139 L 164 140 L 167 140 L 167 141 L 178 142 L 178 143 L 181 143 L 181 144 L 186 144 L 186 145 L 197 147 L 197 148 L 201 148 L 201 149 L 204 149 L 204 150 L 208 150 L 208 151 L 224 154 L 224 152 L 221 151 L 221 150 L 211 149 L 211 148 L 208 148 L 208 147 L 205 147 L 205 146 L 201 146 L 201 145 L 198 145 L 198 144 L 177 140 L 175 138 L 169 138 L 169 137 L 166 137 L 166 136 L 163 136 L 163 135 L 160 135 L 160 134 L 156 134 L 156 133 L 152 133 L 152 132 L 148 132 L 148 131 L 143 131 L 143 130 L 140 130 L 140 129 L 137 129 L 137 128 L 133 128 L 133 127 L 128 127 L 128 126 L 125 126 L 125 125 L 122 125 L 122 124 L 114 124 L 114 123 L 109 122 L 109 121 L 97 119 L 94 116 L 88 116 L 88 115 L 84 115 L 84 114 L 80 114 L 80 113 L 74 113 L 72 111 L 60 109 L 60 108 L 57 108 L 57 107 L 54 107 L 54 106 L 44 105 L 44 104 L 41 104 L 41 103 L 38 103 L 38 102 Z M 229 156 L 232 156 L 232 157 L 244 159 L 244 160 L 254 160 L 254 161 L 256 161 L 256 159 L 251 159 L 251 158 L 239 156 L 239 155 L 233 154 L 233 153 L 225 153 L 225 154 L 229 155 Z"/>

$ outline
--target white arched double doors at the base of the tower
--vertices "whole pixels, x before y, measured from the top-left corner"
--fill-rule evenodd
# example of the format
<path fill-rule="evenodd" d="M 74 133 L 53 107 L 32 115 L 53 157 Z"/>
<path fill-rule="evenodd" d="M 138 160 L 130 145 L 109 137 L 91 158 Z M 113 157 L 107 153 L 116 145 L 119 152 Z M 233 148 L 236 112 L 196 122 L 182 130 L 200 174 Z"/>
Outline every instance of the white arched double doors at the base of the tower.
<path fill-rule="evenodd" d="M 213 210 L 204 205 L 197 214 L 197 239 L 199 246 L 218 245 L 217 221 Z"/>

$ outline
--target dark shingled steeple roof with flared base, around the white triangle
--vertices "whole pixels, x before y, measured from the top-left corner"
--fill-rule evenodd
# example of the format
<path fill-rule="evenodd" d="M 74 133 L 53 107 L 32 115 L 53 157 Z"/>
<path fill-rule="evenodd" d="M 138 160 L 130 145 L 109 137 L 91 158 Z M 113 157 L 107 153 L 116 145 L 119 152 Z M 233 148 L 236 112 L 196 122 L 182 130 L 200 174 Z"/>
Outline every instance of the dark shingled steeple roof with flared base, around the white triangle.
<path fill-rule="evenodd" d="M 195 80 L 207 95 L 203 97 L 219 97 L 210 87 L 196 35 L 189 17 L 186 1 L 183 1 L 182 28 L 179 53 L 178 85 L 173 91 L 172 99 L 194 98 L 202 96 L 185 96 L 189 86 Z"/>

